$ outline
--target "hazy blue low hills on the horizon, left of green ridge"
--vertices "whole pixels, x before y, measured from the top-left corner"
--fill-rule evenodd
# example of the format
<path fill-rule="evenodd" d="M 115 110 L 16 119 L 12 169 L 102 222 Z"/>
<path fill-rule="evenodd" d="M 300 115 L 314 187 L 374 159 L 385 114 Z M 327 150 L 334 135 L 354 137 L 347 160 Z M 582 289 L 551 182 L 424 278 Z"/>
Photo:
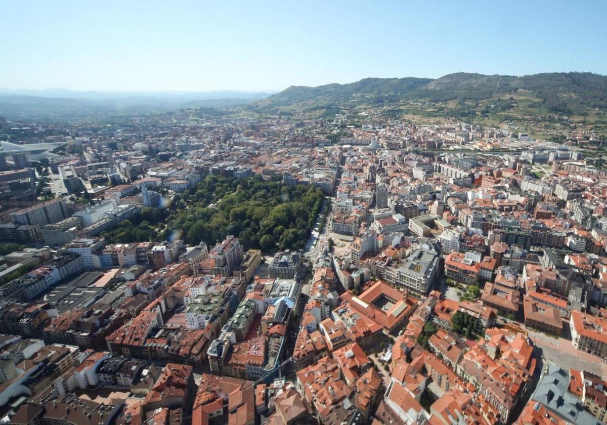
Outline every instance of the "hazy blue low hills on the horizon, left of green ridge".
<path fill-rule="evenodd" d="M 69 121 L 148 114 L 192 107 L 222 108 L 270 96 L 265 92 L 78 92 L 66 89 L 0 88 L 0 117 L 8 120 Z"/>

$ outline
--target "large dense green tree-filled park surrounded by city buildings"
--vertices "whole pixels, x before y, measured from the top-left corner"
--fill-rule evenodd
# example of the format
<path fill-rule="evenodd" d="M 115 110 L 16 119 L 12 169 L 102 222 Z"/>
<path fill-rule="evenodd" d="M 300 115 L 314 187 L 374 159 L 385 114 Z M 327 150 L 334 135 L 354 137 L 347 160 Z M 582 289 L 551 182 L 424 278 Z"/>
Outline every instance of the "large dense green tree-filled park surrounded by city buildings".
<path fill-rule="evenodd" d="M 304 248 L 324 195 L 312 186 L 210 175 L 197 186 L 174 196 L 168 209 L 144 208 L 104 233 L 112 242 L 183 239 L 189 245 L 212 247 L 229 234 L 245 250 Z"/>

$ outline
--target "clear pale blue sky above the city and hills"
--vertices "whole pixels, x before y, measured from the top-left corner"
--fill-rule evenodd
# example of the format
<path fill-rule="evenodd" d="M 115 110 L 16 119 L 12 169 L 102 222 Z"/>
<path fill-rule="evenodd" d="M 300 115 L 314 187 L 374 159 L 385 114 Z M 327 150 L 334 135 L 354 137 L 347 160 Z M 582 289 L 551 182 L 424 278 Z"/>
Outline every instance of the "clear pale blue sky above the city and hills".
<path fill-rule="evenodd" d="M 0 0 L 0 87 L 282 90 L 451 72 L 607 74 L 600 1 Z"/>

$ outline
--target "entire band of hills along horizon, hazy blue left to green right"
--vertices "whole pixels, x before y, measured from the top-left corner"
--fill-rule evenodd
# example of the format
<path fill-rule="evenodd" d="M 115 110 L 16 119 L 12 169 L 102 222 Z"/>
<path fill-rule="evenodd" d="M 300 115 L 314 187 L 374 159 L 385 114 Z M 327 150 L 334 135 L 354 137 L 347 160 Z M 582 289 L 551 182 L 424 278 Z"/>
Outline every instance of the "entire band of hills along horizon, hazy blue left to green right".
<path fill-rule="evenodd" d="M 233 106 L 263 114 L 293 114 L 297 110 L 314 112 L 322 109 L 325 116 L 331 117 L 340 109 L 361 105 L 397 105 L 407 101 L 439 104 L 450 100 L 461 104 L 517 96 L 521 95 L 520 90 L 525 90 L 527 112 L 532 111 L 532 114 L 586 114 L 593 108 L 607 110 L 607 77 L 604 75 L 553 72 L 514 77 L 459 72 L 436 80 L 365 78 L 349 84 L 291 86 L 276 94 L 226 90 L 76 92 L 65 89 L 0 89 L 0 117 L 31 121 L 99 120 L 194 107 L 218 109 Z M 238 110 L 231 112 L 238 113 Z"/>

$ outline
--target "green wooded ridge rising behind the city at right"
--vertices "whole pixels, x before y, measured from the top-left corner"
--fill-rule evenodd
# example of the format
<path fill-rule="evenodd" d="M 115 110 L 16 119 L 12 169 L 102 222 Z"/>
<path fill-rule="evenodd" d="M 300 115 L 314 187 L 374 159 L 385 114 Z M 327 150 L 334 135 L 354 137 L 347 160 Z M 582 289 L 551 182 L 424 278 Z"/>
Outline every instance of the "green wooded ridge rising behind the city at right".
<path fill-rule="evenodd" d="M 356 83 L 327 84 L 318 87 L 291 86 L 254 106 L 271 110 L 298 104 L 391 104 L 398 101 L 486 100 L 532 92 L 537 106 L 551 112 L 579 112 L 582 109 L 607 109 L 607 77 L 593 73 L 553 72 L 513 77 L 453 73 L 436 80 L 429 78 L 365 78 Z"/>

